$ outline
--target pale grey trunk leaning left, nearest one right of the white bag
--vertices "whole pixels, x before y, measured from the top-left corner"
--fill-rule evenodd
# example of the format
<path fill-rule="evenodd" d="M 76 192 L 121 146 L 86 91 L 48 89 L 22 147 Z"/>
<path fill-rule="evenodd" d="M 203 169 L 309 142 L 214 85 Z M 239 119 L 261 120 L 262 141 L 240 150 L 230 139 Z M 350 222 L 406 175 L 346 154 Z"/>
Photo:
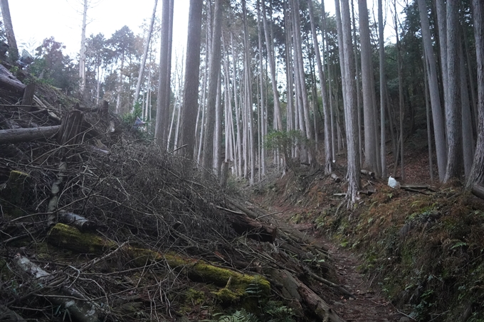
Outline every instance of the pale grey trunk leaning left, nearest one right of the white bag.
<path fill-rule="evenodd" d="M 428 87 L 430 91 L 432 117 L 433 117 L 433 136 L 436 141 L 436 155 L 439 181 L 443 181 L 446 174 L 447 151 L 446 136 L 444 134 L 444 122 L 442 114 L 441 97 L 438 94 L 438 81 L 436 62 L 433 55 L 432 38 L 430 34 L 430 24 L 427 16 L 427 6 L 425 0 L 418 0 L 419 14 L 421 21 L 422 41 L 425 50 L 426 65 L 428 70 Z"/>

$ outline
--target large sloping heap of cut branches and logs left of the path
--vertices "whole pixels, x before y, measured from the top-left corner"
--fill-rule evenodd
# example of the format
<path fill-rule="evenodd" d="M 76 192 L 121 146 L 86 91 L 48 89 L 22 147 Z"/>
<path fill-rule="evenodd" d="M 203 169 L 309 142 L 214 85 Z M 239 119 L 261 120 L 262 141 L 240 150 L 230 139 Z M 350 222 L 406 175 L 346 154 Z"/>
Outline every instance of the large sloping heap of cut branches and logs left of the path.
<path fill-rule="evenodd" d="M 0 320 L 164 321 L 181 311 L 208 318 L 203 306 L 221 300 L 210 295 L 193 307 L 184 294 L 195 281 L 164 258 L 177 254 L 189 259 L 183 266 L 203 260 L 262 274 L 276 299 L 295 299 L 289 303 L 301 321 L 305 311 L 342 321 L 317 295 L 325 285 L 352 296 L 325 279 L 334 277 L 325 247 L 279 230 L 215 178 L 204 180 L 197 164 L 141 139 L 105 104 L 86 108 L 55 89 L 36 91 L 46 95 L 31 105 L 11 92 L 8 102 L 0 98 L 0 131 L 58 127 L 51 136 L 0 144 Z M 90 236 L 101 249 L 56 240 L 59 229 L 72 232 L 58 222 L 87 223 L 80 230 L 90 235 L 73 239 Z M 221 277 L 218 286 L 228 289 L 231 277 Z"/>

